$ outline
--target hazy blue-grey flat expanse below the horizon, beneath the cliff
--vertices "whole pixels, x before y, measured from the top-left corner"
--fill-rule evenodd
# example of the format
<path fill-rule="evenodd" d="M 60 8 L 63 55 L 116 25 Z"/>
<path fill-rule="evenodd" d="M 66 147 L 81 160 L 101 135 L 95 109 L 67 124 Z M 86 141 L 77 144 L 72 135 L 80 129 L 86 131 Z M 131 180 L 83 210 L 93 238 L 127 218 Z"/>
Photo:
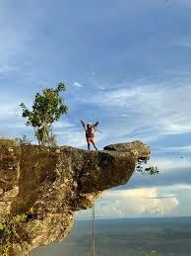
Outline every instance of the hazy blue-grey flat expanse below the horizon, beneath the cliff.
<path fill-rule="evenodd" d="M 191 256 L 191 217 L 96 219 L 96 256 Z M 63 241 L 32 256 L 92 256 L 92 221 L 78 220 Z M 153 251 L 153 252 L 152 252 Z"/>

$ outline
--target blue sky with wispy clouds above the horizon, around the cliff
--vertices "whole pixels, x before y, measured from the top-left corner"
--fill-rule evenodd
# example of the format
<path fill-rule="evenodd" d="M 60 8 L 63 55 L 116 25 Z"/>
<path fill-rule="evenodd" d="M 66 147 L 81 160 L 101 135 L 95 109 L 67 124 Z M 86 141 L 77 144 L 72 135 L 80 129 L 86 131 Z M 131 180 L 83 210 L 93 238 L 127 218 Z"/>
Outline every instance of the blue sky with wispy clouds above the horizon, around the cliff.
<path fill-rule="evenodd" d="M 1 1 L 0 134 L 34 139 L 19 104 L 62 81 L 59 144 L 86 148 L 78 119 L 99 120 L 99 149 L 141 139 L 160 170 L 106 192 L 97 217 L 189 215 L 190 12 L 190 0 Z"/>

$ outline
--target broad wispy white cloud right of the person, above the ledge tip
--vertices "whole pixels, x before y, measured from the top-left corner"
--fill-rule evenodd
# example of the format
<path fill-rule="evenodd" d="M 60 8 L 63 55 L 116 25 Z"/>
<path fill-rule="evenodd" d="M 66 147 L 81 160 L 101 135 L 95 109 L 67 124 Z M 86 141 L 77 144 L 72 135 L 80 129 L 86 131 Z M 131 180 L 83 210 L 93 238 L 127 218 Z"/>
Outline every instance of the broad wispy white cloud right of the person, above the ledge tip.
<path fill-rule="evenodd" d="M 118 125 L 118 133 L 146 139 L 149 136 L 155 140 L 163 134 L 191 131 L 190 98 L 191 84 L 187 81 L 152 85 L 142 81 L 107 92 L 97 92 L 92 97 L 92 103 L 102 108 L 103 112 L 112 114 L 115 120 L 112 128 Z"/>

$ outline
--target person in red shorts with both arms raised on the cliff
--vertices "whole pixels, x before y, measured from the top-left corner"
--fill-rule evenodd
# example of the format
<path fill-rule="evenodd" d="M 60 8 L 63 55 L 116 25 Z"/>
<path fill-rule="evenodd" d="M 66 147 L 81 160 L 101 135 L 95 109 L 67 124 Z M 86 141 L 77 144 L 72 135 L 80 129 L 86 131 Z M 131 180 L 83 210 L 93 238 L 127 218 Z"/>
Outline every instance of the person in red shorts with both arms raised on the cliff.
<path fill-rule="evenodd" d="M 84 121 L 82 121 L 81 119 L 80 119 L 80 122 L 86 131 L 88 149 L 91 150 L 91 143 L 92 143 L 94 145 L 95 149 L 97 150 L 96 144 L 95 144 L 95 132 L 96 132 L 96 127 L 98 125 L 98 122 L 96 122 L 95 125 L 93 125 L 91 123 L 88 123 L 87 125 L 85 125 Z"/>

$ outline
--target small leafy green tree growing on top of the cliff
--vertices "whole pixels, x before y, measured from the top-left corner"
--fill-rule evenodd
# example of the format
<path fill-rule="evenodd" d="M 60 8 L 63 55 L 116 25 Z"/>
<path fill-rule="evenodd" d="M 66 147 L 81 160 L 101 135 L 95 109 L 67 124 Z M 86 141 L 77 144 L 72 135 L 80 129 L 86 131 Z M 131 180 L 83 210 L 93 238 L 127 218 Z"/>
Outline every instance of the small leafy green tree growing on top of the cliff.
<path fill-rule="evenodd" d="M 42 94 L 36 93 L 32 111 L 24 103 L 20 105 L 23 110 L 22 117 L 28 118 L 27 126 L 32 126 L 39 145 L 55 145 L 55 135 L 52 133 L 53 123 L 59 121 L 63 114 L 67 114 L 68 106 L 65 105 L 59 93 L 65 91 L 63 83 L 56 89 L 45 88 Z"/>

